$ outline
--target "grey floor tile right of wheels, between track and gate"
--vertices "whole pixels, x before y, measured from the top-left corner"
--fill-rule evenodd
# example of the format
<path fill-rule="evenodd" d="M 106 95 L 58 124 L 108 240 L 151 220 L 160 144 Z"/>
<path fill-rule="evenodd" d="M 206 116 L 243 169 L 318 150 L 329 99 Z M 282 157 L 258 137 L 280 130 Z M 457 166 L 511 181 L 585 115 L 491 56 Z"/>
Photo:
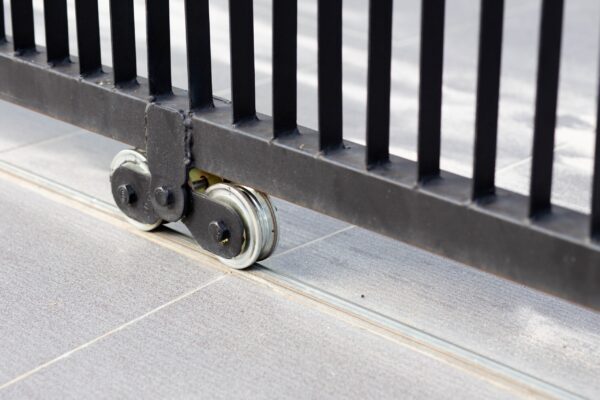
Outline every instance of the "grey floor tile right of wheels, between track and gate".
<path fill-rule="evenodd" d="M 600 314 L 593 311 L 360 229 L 261 264 L 575 393 L 600 396 Z"/>

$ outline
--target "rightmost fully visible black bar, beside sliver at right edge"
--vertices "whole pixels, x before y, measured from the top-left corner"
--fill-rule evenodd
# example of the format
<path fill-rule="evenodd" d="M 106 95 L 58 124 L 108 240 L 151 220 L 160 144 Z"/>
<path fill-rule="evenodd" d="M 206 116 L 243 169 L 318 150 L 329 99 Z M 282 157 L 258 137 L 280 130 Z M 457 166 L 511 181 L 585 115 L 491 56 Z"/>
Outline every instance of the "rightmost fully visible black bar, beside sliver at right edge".
<path fill-rule="evenodd" d="M 563 0 L 544 0 L 540 26 L 529 215 L 551 207 Z"/>

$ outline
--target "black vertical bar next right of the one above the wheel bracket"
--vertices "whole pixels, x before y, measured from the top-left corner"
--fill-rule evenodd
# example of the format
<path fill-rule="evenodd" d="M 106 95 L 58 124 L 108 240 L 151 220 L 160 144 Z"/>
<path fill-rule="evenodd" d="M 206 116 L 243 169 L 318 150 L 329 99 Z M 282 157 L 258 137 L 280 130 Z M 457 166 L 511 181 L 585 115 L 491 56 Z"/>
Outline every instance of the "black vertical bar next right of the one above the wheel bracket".
<path fill-rule="evenodd" d="M 212 107 L 208 0 L 185 0 L 190 109 Z"/>

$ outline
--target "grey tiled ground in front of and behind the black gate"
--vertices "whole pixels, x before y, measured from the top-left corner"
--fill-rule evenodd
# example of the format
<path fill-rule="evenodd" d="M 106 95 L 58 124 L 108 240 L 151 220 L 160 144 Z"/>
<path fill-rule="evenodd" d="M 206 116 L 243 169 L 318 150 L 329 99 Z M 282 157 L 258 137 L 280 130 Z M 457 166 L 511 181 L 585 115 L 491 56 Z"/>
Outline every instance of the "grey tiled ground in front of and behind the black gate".
<path fill-rule="evenodd" d="M 185 87 L 182 2 L 172 3 L 174 82 Z M 315 127 L 315 1 L 300 3 L 299 116 Z M 473 3 L 448 0 L 442 165 L 463 175 Z M 600 5 L 566 3 L 553 196 L 587 212 Z M 214 85 L 224 97 L 226 4 L 211 0 Z M 143 1 L 136 6 L 145 75 Z M 524 193 L 538 7 L 507 0 L 498 177 Z M 269 10 L 255 1 L 257 101 L 267 114 Z M 408 158 L 418 13 L 397 2 L 392 145 Z M 366 2 L 347 1 L 344 23 L 345 136 L 362 141 Z M 600 314 L 278 200 L 277 253 L 226 270 L 178 226 L 147 234 L 123 221 L 108 184 L 123 148 L 0 102 L 0 398 L 600 397 Z"/>

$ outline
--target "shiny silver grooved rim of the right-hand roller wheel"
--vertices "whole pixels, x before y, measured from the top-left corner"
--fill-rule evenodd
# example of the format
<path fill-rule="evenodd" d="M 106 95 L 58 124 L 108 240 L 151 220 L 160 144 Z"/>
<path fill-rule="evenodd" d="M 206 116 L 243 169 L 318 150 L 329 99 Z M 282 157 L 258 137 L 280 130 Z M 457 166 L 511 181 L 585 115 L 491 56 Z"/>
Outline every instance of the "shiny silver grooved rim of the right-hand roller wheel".
<path fill-rule="evenodd" d="M 228 205 L 244 224 L 244 244 L 234 258 L 218 257 L 223 264 L 244 269 L 269 257 L 277 246 L 277 220 L 269 197 L 252 188 L 230 183 L 218 183 L 206 189 L 214 201 Z"/>

